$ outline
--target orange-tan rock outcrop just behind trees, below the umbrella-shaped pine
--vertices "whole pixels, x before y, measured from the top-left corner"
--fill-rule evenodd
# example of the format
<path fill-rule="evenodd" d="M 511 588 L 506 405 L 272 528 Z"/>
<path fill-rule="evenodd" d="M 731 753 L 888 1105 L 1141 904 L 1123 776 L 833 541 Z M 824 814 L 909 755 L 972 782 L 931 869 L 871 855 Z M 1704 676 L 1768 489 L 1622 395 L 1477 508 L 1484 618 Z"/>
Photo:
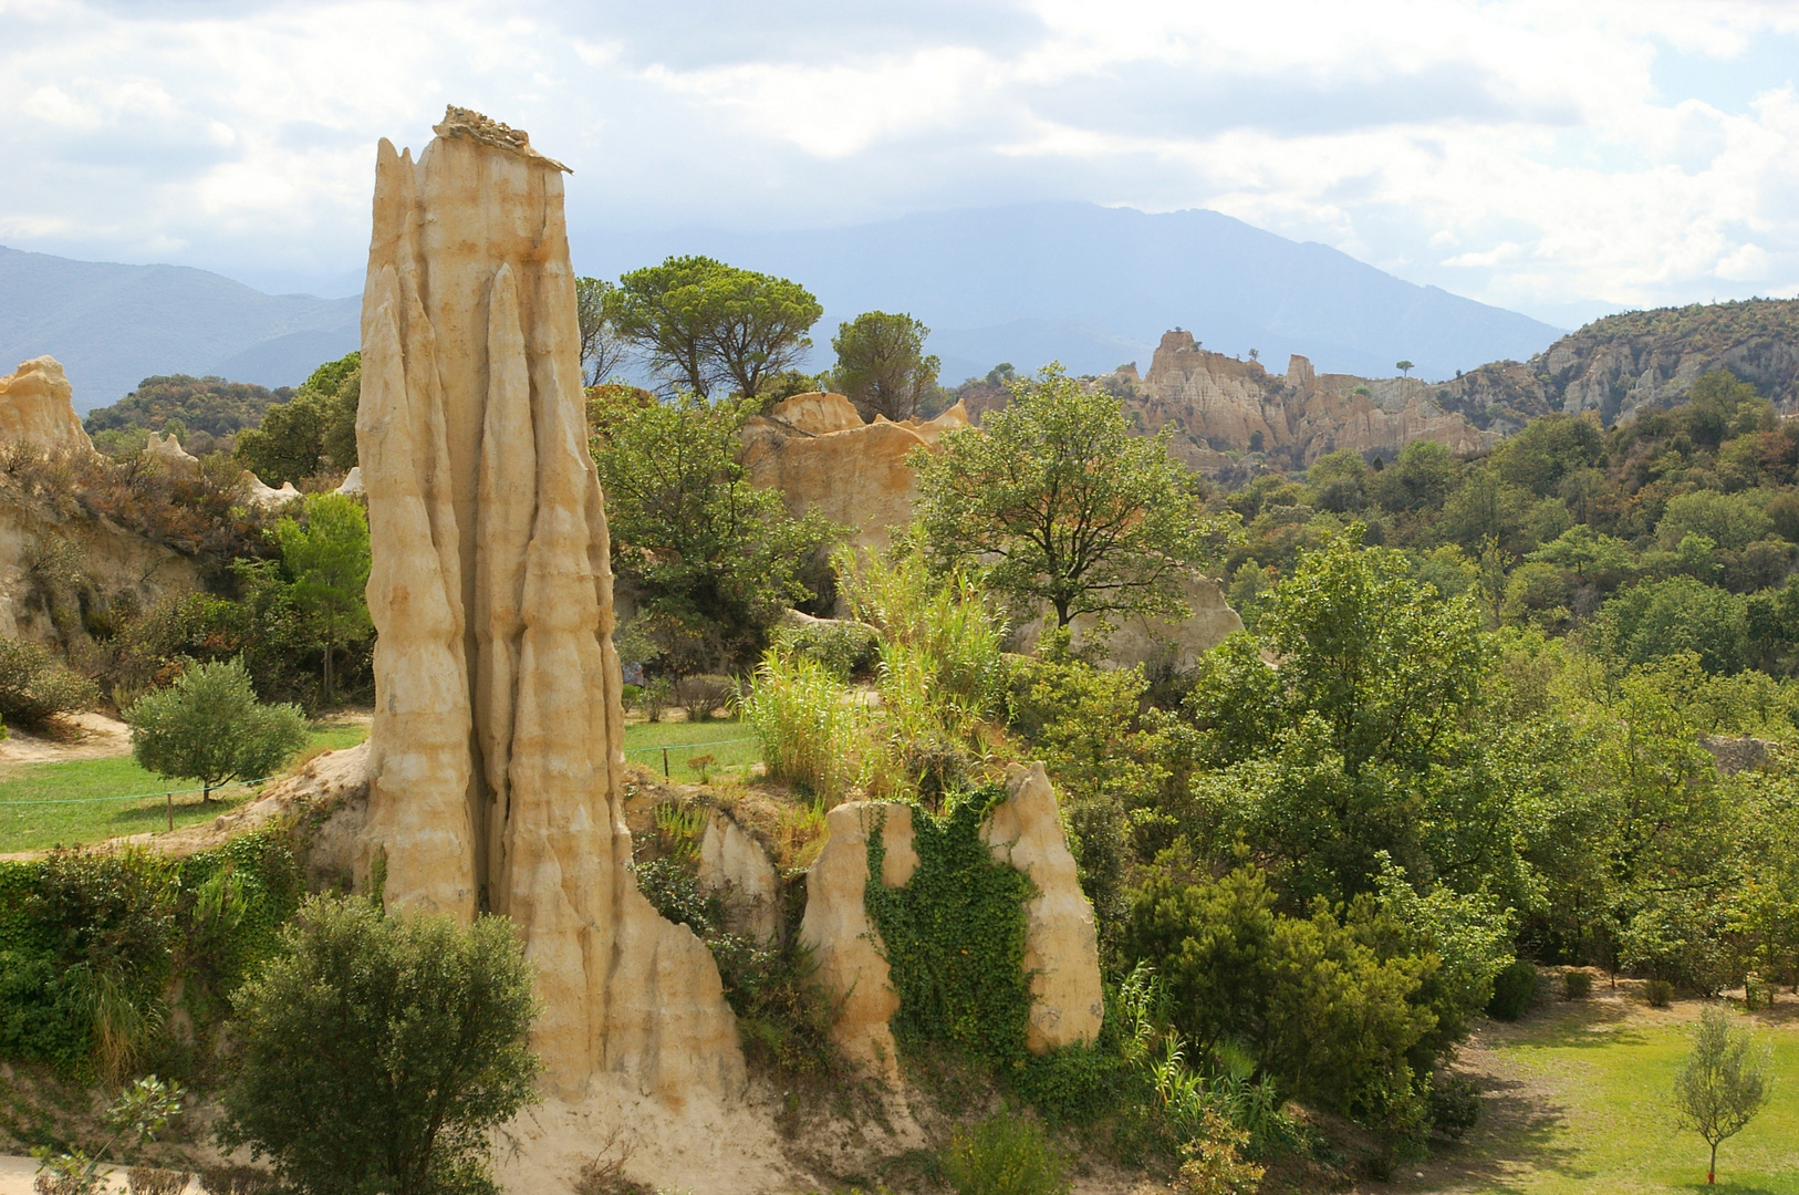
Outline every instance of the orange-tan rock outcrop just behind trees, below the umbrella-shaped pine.
<path fill-rule="evenodd" d="M 757 486 L 781 491 L 795 518 L 817 509 L 851 527 L 849 544 L 880 549 L 912 522 L 917 477 L 907 455 L 962 427 L 961 405 L 935 419 L 864 423 L 842 394 L 797 394 L 745 425 L 743 464 Z"/>

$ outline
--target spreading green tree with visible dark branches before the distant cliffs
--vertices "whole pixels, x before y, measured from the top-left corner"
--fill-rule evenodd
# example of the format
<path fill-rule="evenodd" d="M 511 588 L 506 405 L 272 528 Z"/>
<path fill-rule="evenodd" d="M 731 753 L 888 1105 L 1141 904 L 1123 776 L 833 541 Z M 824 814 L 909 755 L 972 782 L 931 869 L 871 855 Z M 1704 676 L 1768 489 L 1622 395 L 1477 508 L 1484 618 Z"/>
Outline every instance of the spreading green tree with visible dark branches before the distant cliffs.
<path fill-rule="evenodd" d="M 980 428 L 914 450 L 926 547 L 980 569 L 1022 608 L 1076 615 L 1186 615 L 1182 583 L 1231 524 L 1205 513 L 1195 479 L 1168 455 L 1169 428 L 1132 436 L 1119 401 L 1060 365 L 1007 387 Z"/>

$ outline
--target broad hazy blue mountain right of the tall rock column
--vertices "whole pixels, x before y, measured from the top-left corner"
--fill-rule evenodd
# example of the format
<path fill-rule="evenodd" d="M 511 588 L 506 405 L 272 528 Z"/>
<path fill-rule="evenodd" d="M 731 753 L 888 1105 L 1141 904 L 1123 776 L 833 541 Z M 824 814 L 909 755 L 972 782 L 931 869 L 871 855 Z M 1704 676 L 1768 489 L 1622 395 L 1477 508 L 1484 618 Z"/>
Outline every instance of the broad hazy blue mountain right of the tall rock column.
<path fill-rule="evenodd" d="M 1002 360 L 1078 373 L 1150 365 L 1169 328 L 1222 353 L 1259 349 L 1274 371 L 1302 353 L 1322 373 L 1428 378 L 1526 360 L 1563 329 L 1414 286 L 1335 248 L 1288 241 L 1211 211 L 1146 214 L 1092 203 L 925 212 L 883 223 L 741 234 L 572 232 L 583 274 L 617 277 L 667 254 L 711 254 L 804 283 L 826 308 L 813 333 L 829 362 L 840 320 L 910 311 L 952 382 Z"/>

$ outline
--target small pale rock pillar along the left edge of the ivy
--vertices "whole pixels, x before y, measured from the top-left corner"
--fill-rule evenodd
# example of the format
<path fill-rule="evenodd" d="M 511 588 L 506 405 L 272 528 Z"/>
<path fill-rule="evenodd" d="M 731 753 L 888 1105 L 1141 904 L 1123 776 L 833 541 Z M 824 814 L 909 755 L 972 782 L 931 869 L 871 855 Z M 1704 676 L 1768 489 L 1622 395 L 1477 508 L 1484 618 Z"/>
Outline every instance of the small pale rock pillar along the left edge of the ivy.
<path fill-rule="evenodd" d="M 912 849 L 912 808 L 847 801 L 826 817 L 826 842 L 806 875 L 806 916 L 799 936 L 819 965 L 819 983 L 842 1001 L 831 1037 L 844 1056 L 889 1085 L 900 1082 L 900 1058 L 889 1020 L 900 1011 L 880 932 L 869 921 L 869 835 L 880 828 L 887 855 L 882 882 L 901 887 L 917 869 Z"/>

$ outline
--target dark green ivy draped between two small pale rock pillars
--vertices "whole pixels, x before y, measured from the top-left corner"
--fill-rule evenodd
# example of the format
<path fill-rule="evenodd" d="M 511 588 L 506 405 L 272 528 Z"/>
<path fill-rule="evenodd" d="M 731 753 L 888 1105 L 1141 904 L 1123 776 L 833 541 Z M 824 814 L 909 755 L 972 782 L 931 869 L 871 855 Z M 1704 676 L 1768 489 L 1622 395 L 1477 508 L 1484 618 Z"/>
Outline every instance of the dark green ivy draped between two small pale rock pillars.
<path fill-rule="evenodd" d="M 1024 1067 L 1031 984 L 1024 972 L 1024 902 L 1031 880 L 995 862 L 980 819 L 1006 799 L 998 785 L 955 797 L 941 817 L 912 808 L 917 869 L 882 882 L 883 826 L 869 835 L 864 905 L 900 993 L 901 1040 L 943 1042 L 1011 1073 Z"/>

